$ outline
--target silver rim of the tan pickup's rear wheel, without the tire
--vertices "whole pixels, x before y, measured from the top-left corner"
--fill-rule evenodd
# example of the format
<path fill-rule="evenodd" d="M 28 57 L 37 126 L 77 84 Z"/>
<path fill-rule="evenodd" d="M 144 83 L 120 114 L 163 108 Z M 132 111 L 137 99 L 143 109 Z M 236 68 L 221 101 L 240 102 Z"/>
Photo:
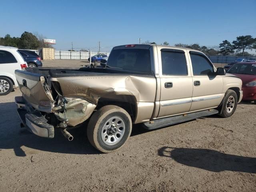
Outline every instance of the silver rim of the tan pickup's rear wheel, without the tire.
<path fill-rule="evenodd" d="M 109 118 L 101 129 L 102 141 L 107 145 L 120 142 L 125 132 L 124 120 L 118 116 Z"/>

